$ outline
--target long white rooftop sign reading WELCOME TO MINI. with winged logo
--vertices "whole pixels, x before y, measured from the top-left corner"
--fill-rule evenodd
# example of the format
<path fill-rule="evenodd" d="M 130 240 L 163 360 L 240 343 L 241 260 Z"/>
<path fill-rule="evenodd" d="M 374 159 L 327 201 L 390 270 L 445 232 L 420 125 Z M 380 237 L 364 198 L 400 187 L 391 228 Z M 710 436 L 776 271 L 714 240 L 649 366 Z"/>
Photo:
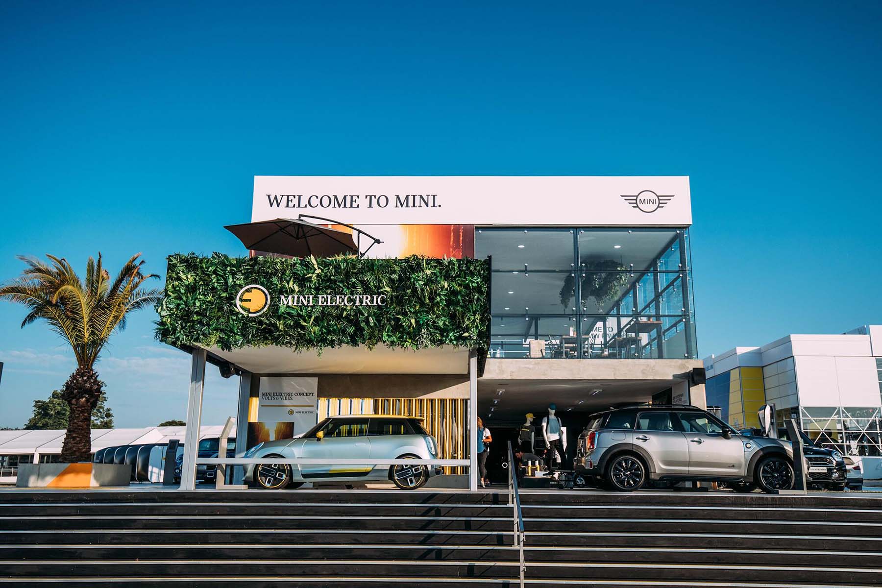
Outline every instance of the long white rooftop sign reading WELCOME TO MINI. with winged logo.
<path fill-rule="evenodd" d="M 256 175 L 251 220 L 686 227 L 688 176 Z M 313 221 L 320 223 L 321 221 Z"/>

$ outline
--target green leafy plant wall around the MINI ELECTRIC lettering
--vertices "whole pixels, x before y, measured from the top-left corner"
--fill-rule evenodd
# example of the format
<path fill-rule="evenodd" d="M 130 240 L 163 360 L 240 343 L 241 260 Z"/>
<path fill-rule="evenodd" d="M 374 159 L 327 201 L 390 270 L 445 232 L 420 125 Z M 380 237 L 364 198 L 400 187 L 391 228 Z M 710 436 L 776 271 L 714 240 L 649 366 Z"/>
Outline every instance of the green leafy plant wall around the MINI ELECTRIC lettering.
<path fill-rule="evenodd" d="M 168 257 L 157 337 L 173 346 L 340 346 L 420 349 L 490 343 L 490 268 L 479 259 Z M 250 284 L 265 287 L 259 316 L 236 309 Z M 385 306 L 286 306 L 288 294 L 385 294 Z"/>

